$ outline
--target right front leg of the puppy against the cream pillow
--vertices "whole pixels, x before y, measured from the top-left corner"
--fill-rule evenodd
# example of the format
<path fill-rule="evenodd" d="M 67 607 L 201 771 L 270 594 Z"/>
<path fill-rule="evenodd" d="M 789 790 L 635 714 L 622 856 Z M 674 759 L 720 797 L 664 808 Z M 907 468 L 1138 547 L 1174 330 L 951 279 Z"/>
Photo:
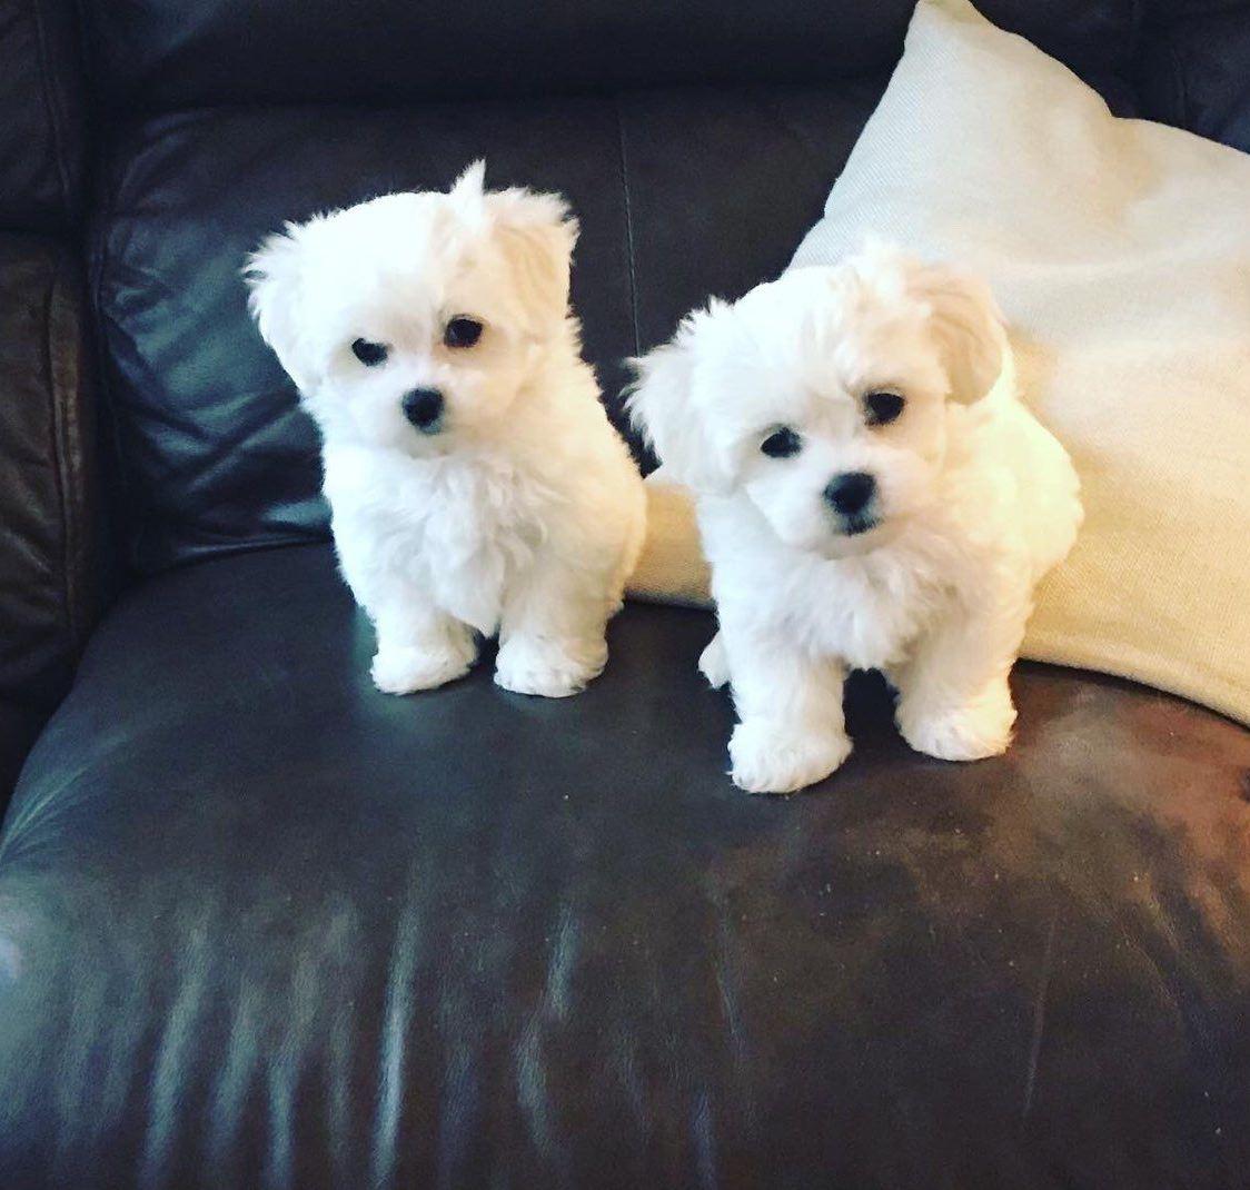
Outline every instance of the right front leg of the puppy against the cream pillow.
<path fill-rule="evenodd" d="M 1028 605 L 955 606 L 891 672 L 902 738 L 939 760 L 981 760 L 1006 751 L 1015 706 L 1008 674 L 1020 651 Z"/>

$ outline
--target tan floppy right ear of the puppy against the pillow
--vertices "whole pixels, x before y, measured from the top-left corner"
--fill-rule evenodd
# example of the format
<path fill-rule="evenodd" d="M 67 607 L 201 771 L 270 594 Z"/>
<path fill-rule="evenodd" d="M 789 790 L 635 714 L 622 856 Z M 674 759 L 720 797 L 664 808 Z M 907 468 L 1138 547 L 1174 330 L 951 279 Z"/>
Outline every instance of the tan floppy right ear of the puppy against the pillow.
<path fill-rule="evenodd" d="M 948 265 L 912 261 L 908 289 L 930 309 L 951 400 L 980 400 L 999 379 L 1006 349 L 1002 314 L 990 286 Z"/>

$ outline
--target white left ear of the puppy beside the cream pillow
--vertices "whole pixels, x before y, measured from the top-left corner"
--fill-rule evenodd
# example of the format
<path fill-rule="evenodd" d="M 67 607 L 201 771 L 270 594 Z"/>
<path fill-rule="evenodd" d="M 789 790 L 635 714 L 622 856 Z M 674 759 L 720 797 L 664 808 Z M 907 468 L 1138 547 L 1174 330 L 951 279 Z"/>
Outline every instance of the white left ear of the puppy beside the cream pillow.
<path fill-rule="evenodd" d="M 695 344 L 728 309 L 714 300 L 688 314 L 671 342 L 629 360 L 638 376 L 625 402 L 630 421 L 679 484 L 708 495 L 726 494 L 734 478 L 694 401 Z"/>

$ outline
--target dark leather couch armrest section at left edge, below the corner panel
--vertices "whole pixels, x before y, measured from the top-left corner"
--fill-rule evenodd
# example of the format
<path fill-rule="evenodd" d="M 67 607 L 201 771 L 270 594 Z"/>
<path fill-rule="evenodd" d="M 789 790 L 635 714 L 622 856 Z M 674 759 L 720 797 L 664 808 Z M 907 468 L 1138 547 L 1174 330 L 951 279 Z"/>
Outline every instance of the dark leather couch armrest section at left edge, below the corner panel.
<path fill-rule="evenodd" d="M 95 610 L 96 444 L 81 279 L 0 235 L 0 699 L 50 709 Z"/>

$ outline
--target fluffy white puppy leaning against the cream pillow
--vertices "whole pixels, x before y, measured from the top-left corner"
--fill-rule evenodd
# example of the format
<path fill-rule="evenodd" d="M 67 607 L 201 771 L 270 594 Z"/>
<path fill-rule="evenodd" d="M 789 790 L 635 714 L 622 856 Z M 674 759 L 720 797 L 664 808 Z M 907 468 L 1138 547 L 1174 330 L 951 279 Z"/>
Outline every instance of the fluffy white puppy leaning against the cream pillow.
<path fill-rule="evenodd" d="M 1034 586 L 1081 509 L 988 288 L 872 244 L 711 302 L 636 366 L 631 415 L 698 500 L 734 781 L 832 772 L 850 669 L 885 671 L 918 751 L 1001 752 Z"/>

